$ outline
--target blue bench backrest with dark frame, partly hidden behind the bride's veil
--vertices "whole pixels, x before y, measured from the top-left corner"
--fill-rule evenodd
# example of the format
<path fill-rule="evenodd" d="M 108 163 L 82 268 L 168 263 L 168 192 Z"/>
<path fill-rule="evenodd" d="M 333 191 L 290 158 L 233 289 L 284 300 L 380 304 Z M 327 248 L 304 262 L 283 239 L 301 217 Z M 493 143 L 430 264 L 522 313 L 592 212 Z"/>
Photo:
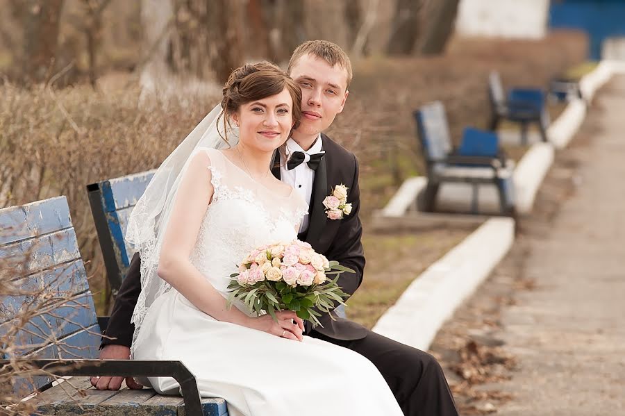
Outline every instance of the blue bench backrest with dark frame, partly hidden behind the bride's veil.
<path fill-rule="evenodd" d="M 124 236 L 128 218 L 156 170 L 87 185 L 89 202 L 113 294 L 126 277 L 133 250 Z"/>

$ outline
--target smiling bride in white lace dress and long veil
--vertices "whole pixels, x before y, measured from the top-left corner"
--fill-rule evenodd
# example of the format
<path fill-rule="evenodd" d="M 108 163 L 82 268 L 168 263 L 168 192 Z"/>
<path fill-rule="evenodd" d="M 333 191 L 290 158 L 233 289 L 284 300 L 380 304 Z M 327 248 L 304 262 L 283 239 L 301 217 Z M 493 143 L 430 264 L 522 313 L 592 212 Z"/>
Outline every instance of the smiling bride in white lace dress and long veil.
<path fill-rule="evenodd" d="M 302 335 L 295 313 L 226 307 L 254 247 L 297 238 L 308 205 L 270 174 L 301 117 L 301 91 L 270 63 L 236 69 L 223 99 L 156 172 L 128 224 L 142 259 L 132 358 L 181 360 L 202 397 L 235 415 L 402 415 L 376 367 Z M 238 132 L 238 133 L 237 133 Z M 169 377 L 144 380 L 177 394 Z"/>

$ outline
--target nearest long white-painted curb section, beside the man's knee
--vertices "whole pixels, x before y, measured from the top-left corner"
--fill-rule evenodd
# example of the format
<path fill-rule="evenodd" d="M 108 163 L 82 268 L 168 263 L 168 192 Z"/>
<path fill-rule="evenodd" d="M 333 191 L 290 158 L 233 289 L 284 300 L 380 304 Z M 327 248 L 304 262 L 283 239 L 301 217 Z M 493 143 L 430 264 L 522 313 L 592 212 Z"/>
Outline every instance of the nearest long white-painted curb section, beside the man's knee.
<path fill-rule="evenodd" d="M 413 281 L 373 331 L 428 349 L 444 321 L 508 253 L 514 228 L 511 218 L 489 219 Z"/>

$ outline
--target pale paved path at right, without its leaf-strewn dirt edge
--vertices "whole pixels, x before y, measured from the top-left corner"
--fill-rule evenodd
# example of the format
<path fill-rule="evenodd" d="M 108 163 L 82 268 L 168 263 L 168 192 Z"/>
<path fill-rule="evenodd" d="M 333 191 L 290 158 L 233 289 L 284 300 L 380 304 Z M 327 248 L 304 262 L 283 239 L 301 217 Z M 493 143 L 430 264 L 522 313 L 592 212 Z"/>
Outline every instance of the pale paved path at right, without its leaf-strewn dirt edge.
<path fill-rule="evenodd" d="M 500 415 L 625 415 L 625 77 L 598 100 L 582 184 L 530 243 L 535 290 L 503 310 L 519 372 Z"/>

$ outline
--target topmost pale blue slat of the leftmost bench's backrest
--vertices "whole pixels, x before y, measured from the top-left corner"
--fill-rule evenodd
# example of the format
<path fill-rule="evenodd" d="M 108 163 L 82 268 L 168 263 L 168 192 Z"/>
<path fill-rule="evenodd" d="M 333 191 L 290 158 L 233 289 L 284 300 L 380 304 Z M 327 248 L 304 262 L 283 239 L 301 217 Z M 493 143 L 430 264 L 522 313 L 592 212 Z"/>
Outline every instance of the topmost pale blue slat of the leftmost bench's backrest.
<path fill-rule="evenodd" d="M 0 209 L 0 245 L 72 226 L 65 197 Z"/>

